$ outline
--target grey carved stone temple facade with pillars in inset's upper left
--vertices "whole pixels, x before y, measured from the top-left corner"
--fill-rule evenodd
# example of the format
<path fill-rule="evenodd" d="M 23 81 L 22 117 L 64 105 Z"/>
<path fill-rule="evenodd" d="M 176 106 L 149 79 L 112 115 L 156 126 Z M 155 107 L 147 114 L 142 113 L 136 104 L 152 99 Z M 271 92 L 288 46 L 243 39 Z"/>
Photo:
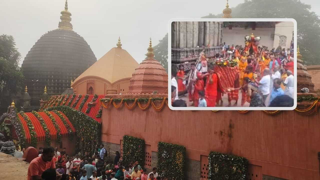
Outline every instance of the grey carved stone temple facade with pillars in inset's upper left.
<path fill-rule="evenodd" d="M 172 22 L 172 63 L 196 61 L 203 49 L 208 58 L 221 53 L 222 27 L 223 22 Z"/>

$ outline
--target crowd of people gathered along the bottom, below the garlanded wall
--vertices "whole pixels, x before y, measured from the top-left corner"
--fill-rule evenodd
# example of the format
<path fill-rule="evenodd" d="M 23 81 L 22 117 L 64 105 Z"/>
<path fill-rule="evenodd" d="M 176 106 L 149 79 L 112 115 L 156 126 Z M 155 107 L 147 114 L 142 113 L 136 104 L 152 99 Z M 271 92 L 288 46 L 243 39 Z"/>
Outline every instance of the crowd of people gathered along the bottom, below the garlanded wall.
<path fill-rule="evenodd" d="M 69 156 L 67 149 L 39 148 L 39 156 L 30 162 L 28 180 L 171 180 L 160 177 L 157 168 L 147 173 L 139 162 L 123 164 L 119 151 L 113 161 L 108 160 L 104 145 L 95 147 L 94 154 L 89 152 Z"/>

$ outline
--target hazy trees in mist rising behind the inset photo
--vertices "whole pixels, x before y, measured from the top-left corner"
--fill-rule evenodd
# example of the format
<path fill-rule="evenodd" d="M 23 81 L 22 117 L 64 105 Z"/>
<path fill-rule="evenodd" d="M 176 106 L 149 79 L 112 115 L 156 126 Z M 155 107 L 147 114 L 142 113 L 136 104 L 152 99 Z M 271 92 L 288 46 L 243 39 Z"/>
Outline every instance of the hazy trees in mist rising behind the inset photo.
<path fill-rule="evenodd" d="M 310 12 L 311 5 L 300 0 L 245 0 L 232 8 L 233 18 L 293 18 L 297 21 L 297 35 L 300 53 L 305 65 L 320 64 L 320 20 L 315 12 Z M 209 14 L 202 18 L 221 18 L 223 14 Z M 167 37 L 167 35 L 165 36 Z M 164 38 L 165 38 L 164 37 Z M 168 48 L 168 41 L 157 45 L 160 52 Z"/>

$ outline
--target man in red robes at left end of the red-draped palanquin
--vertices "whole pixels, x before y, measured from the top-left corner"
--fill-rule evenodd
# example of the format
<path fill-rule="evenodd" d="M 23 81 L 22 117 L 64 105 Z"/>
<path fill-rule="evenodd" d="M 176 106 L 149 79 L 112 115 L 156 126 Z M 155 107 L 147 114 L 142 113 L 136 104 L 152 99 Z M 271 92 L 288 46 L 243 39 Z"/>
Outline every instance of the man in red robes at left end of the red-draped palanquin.
<path fill-rule="evenodd" d="M 213 72 L 213 67 L 214 66 L 210 64 L 208 67 L 209 73 L 206 74 L 208 78 L 205 86 L 204 98 L 207 102 L 207 107 L 215 107 L 217 101 L 218 76 Z"/>

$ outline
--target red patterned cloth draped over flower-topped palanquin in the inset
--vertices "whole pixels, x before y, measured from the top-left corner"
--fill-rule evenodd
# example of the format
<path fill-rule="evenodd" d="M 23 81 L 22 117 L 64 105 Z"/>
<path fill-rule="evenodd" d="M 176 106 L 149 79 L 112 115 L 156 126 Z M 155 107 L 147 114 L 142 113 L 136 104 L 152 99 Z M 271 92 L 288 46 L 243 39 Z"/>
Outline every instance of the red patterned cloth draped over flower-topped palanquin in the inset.
<path fill-rule="evenodd" d="M 237 67 L 215 66 L 214 72 L 218 75 L 218 85 L 222 93 L 228 93 L 228 88 L 234 88 L 235 80 L 239 74 Z"/>

